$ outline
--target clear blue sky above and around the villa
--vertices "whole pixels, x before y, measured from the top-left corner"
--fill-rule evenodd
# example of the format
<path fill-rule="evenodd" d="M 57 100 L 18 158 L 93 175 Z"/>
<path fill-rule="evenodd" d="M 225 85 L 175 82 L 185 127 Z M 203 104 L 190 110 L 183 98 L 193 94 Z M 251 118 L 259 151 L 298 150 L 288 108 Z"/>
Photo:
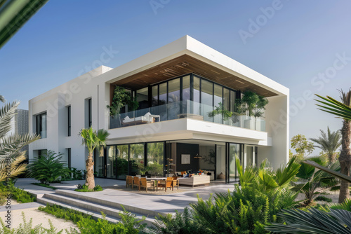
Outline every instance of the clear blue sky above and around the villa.
<path fill-rule="evenodd" d="M 0 49 L 0 94 L 28 100 L 95 66 L 118 67 L 186 34 L 290 88 L 290 137 L 341 121 L 311 93 L 351 87 L 351 1 L 50 0 Z"/>

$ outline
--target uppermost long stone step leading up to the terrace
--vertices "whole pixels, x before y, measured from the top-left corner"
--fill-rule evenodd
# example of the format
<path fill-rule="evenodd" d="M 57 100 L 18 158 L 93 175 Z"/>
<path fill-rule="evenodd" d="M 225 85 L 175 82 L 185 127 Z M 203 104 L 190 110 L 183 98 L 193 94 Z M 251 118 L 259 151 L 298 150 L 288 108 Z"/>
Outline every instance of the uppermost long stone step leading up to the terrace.
<path fill-rule="evenodd" d="M 84 200 L 87 202 L 93 202 L 96 204 L 100 204 L 100 205 L 105 205 L 108 207 L 114 207 L 116 209 L 120 209 L 123 210 L 122 206 L 124 207 L 124 209 L 126 209 L 126 211 L 128 212 L 132 212 L 135 214 L 143 214 L 144 216 L 151 216 L 152 218 L 159 216 L 159 214 L 166 216 L 166 213 L 162 213 L 162 212 L 157 212 L 154 210 L 149 210 L 149 209 L 143 209 L 143 208 L 139 208 L 139 207 L 133 207 L 131 205 L 124 205 L 121 204 L 119 202 L 114 202 L 111 200 L 104 200 L 104 199 L 100 199 L 100 198 L 93 198 L 88 196 L 88 194 L 78 194 L 78 193 L 74 193 L 72 191 L 66 191 L 66 190 L 61 190 L 58 189 L 56 190 L 55 194 L 57 195 L 63 195 L 65 197 L 69 197 L 69 198 L 74 198 L 74 199 L 79 199 L 79 200 Z"/>

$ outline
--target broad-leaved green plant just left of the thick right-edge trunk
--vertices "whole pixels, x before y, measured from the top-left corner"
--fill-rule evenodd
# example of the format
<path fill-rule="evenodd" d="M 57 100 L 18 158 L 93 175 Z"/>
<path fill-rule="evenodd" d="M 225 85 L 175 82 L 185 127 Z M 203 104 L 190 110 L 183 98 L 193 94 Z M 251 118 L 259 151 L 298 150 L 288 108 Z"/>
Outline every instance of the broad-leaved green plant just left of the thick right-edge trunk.
<path fill-rule="evenodd" d="M 323 161 L 320 157 L 310 158 L 310 160 L 322 165 L 328 165 L 328 163 Z M 340 170 L 338 162 L 328 165 L 328 167 L 331 170 Z M 321 193 L 328 190 L 336 191 L 339 188 L 339 181 L 336 177 L 322 170 L 317 170 L 315 167 L 305 163 L 301 163 L 301 167 L 296 176 L 300 178 L 300 181 L 294 183 L 293 191 L 300 191 L 305 195 L 305 205 L 310 205 Z"/>

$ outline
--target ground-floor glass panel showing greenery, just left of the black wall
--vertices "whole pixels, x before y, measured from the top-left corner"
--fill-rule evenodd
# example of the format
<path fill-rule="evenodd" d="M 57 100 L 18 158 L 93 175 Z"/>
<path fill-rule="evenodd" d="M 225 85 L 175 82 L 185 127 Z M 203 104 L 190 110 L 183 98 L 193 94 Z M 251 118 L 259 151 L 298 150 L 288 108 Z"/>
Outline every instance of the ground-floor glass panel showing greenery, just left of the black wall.
<path fill-rule="evenodd" d="M 147 143 L 147 166 L 149 174 L 164 175 L 164 142 Z"/>

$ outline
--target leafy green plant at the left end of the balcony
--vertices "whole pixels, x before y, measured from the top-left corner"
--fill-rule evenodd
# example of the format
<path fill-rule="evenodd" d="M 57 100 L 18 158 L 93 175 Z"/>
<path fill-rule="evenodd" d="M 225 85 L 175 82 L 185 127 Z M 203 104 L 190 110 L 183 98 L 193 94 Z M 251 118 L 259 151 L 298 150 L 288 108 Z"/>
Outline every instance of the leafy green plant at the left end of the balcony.
<path fill-rule="evenodd" d="M 110 116 L 118 119 L 119 125 L 121 125 L 121 116 L 119 113 L 121 108 L 124 106 L 128 106 L 128 111 L 135 111 L 138 108 L 139 103 L 135 101 L 133 97 L 131 97 L 131 93 L 129 93 L 125 88 L 116 85 L 114 87 L 114 95 L 111 106 L 107 105 L 107 108 L 110 109 Z M 113 128 L 113 126 L 111 127 Z"/>

